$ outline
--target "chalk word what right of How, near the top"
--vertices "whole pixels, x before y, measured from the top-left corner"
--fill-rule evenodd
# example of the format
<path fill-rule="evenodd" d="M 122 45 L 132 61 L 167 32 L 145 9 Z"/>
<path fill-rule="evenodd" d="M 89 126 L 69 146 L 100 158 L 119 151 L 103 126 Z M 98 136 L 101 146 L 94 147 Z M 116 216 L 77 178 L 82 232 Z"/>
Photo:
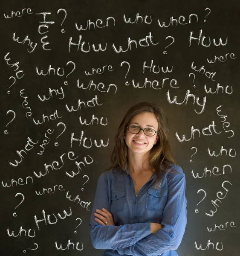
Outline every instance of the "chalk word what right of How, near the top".
<path fill-rule="evenodd" d="M 156 44 L 154 44 L 152 38 L 153 38 L 153 36 L 152 36 L 151 32 L 149 32 L 145 38 L 141 38 L 139 41 L 131 40 L 131 38 L 129 37 L 129 38 L 127 38 L 127 49 L 126 50 L 124 50 L 121 45 L 118 47 L 119 49 L 117 49 L 114 43 L 112 45 L 113 50 L 116 53 L 127 52 L 128 50 L 132 49 L 132 44 L 134 44 L 136 46 L 136 48 L 138 47 L 138 45 L 140 47 L 149 47 L 150 44 L 157 45 L 158 42 Z M 148 39 L 149 39 L 149 41 L 148 41 Z"/>

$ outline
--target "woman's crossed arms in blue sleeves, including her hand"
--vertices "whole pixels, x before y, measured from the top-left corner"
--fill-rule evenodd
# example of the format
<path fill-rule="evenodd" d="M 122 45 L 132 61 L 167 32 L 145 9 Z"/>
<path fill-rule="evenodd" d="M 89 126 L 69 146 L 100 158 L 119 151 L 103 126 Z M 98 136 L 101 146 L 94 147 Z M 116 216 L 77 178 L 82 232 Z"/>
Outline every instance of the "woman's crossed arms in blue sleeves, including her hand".
<path fill-rule="evenodd" d="M 106 199 L 108 185 L 101 175 L 96 194 L 101 193 Z M 115 226 L 107 210 L 110 209 L 110 202 L 107 199 L 103 202 L 94 202 L 90 227 L 93 246 L 98 249 L 117 250 L 121 255 L 136 256 L 155 256 L 176 250 L 182 241 L 187 222 L 186 203 L 185 175 L 169 181 L 168 201 L 163 211 L 162 223 L 158 225 L 148 222 Z M 101 207 L 105 210 L 94 215 L 95 210 Z M 98 217 L 98 221 L 94 216 Z M 105 219 L 111 225 L 106 226 Z"/>

